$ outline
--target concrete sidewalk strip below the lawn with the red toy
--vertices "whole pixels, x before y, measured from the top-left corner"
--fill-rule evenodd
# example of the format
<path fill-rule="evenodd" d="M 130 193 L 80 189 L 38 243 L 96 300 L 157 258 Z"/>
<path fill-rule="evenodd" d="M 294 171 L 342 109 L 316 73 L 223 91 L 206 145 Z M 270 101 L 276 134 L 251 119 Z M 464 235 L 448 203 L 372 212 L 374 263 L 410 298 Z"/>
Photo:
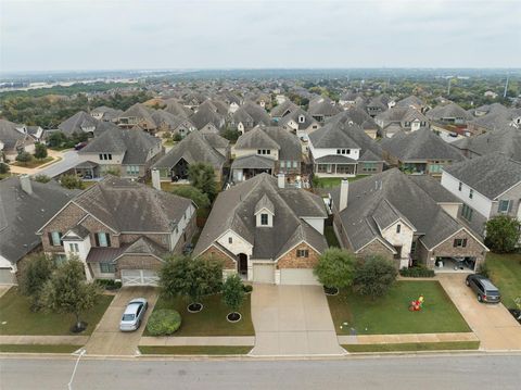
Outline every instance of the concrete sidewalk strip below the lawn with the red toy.
<path fill-rule="evenodd" d="M 340 344 L 399 344 L 409 342 L 479 341 L 473 332 L 339 336 Z"/>

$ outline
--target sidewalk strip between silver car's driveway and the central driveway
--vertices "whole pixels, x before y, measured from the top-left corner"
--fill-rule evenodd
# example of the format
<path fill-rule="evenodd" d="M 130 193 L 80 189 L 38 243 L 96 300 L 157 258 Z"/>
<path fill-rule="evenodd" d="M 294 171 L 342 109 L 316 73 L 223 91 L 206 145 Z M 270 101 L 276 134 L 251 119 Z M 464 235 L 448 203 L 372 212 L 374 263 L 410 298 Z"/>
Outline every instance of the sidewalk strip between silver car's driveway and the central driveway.
<path fill-rule="evenodd" d="M 139 345 L 229 345 L 250 347 L 255 344 L 255 336 L 215 336 L 215 337 L 142 337 Z"/>

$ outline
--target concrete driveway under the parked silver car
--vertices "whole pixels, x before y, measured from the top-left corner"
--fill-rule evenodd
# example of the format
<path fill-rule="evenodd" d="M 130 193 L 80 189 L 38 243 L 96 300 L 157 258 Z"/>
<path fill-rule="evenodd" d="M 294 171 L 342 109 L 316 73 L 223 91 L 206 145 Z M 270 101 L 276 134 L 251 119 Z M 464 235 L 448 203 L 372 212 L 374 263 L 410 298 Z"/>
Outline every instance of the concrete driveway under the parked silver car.
<path fill-rule="evenodd" d="M 134 298 L 145 298 L 149 301 L 149 310 L 141 327 L 131 332 L 119 331 L 119 320 L 128 301 Z M 147 319 L 152 313 L 157 301 L 157 291 L 153 287 L 124 287 L 101 318 L 85 345 L 89 355 L 136 355 L 139 340 L 147 325 Z"/>

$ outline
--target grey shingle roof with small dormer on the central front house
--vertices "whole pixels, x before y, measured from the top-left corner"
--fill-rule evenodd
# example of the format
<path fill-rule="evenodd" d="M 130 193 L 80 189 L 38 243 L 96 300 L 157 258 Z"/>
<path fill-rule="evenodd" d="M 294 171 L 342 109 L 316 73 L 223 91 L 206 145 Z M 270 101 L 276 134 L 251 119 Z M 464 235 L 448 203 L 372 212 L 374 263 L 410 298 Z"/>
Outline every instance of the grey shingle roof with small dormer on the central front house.
<path fill-rule="evenodd" d="M 255 209 L 264 197 L 272 203 L 271 228 L 255 226 Z M 327 217 L 320 197 L 302 189 L 280 189 L 276 178 L 257 175 L 219 193 L 194 254 L 201 254 L 228 229 L 253 244 L 253 259 L 276 260 L 302 239 L 318 251 L 325 250 L 326 239 L 302 219 L 304 216 Z"/>

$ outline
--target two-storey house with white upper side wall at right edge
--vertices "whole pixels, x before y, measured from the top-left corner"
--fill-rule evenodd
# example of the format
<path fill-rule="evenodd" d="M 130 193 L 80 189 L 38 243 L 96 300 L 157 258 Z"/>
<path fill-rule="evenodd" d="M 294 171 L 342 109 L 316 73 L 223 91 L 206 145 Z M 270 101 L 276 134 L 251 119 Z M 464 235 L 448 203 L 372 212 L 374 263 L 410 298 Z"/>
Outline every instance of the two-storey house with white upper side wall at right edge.
<path fill-rule="evenodd" d="M 521 162 L 499 152 L 443 168 L 442 186 L 463 202 L 460 217 L 479 235 L 496 215 L 521 221 Z"/>

